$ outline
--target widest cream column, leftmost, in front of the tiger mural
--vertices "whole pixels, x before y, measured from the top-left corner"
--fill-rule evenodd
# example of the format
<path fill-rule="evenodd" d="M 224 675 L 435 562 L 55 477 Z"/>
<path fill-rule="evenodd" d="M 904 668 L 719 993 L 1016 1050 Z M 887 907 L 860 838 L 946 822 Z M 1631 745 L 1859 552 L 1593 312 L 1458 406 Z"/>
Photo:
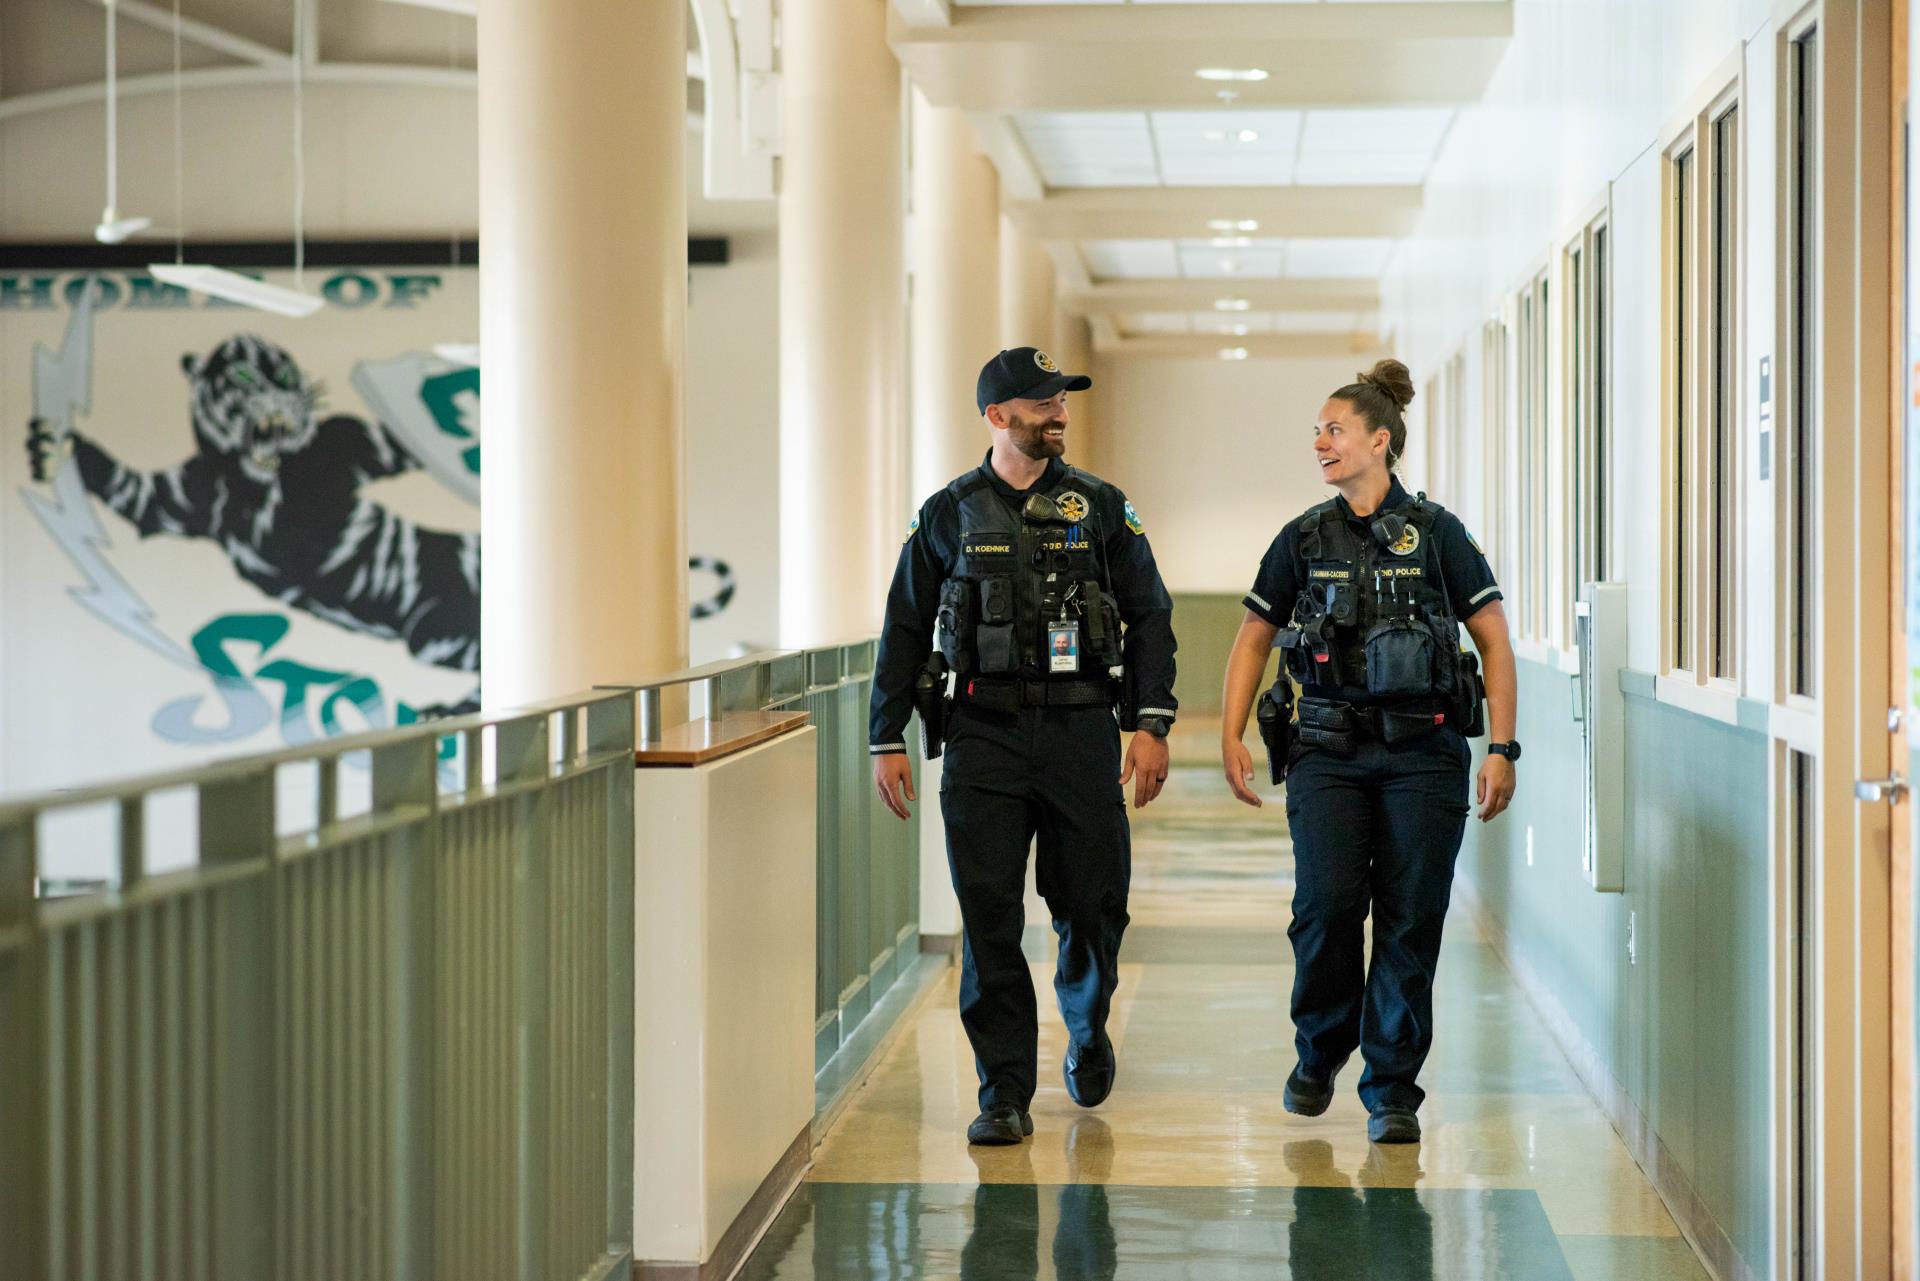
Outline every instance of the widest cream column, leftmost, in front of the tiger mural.
<path fill-rule="evenodd" d="M 482 693 L 687 657 L 685 0 L 480 13 Z"/>

